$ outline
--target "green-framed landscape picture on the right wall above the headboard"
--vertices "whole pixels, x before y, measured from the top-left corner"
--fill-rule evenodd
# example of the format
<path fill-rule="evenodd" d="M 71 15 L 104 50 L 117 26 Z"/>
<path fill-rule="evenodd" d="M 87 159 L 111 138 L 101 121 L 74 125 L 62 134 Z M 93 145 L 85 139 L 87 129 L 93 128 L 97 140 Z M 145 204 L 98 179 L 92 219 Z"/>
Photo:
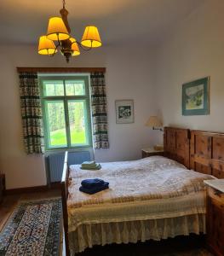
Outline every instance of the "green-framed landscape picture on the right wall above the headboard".
<path fill-rule="evenodd" d="M 182 115 L 210 113 L 210 78 L 182 85 Z"/>

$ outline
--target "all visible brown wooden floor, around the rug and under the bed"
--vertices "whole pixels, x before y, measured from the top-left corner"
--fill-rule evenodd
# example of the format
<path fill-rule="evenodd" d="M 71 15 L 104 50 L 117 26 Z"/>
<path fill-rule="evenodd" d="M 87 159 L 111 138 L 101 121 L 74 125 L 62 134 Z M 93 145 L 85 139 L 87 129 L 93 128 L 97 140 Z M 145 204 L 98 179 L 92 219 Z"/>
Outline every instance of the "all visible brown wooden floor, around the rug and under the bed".
<path fill-rule="evenodd" d="M 58 196 L 60 196 L 60 189 L 29 193 L 26 195 L 5 196 L 3 203 L 0 205 L 0 230 L 2 230 L 3 225 L 20 200 L 46 199 Z M 86 249 L 83 253 L 78 253 L 78 256 L 212 256 L 213 254 L 208 252 L 204 245 L 204 236 L 181 236 L 159 242 L 147 241 L 128 245 L 96 246 Z M 63 238 L 61 238 L 60 247 L 60 255 L 66 256 Z"/>

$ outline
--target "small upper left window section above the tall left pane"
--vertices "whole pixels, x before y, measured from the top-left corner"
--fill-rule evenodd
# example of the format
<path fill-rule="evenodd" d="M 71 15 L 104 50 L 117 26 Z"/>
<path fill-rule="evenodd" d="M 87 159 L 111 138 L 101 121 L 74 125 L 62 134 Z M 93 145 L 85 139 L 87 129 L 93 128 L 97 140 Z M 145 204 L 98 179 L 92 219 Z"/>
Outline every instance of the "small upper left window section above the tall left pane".
<path fill-rule="evenodd" d="M 63 81 L 43 81 L 44 96 L 64 96 Z"/>

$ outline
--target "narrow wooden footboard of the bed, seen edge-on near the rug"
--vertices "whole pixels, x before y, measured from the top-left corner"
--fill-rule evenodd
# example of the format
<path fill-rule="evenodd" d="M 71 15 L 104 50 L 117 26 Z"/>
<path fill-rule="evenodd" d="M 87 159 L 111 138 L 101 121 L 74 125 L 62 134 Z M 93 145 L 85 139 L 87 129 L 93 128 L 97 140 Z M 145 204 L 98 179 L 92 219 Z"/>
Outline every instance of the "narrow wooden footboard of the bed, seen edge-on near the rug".
<path fill-rule="evenodd" d="M 64 234 L 66 241 L 66 255 L 70 255 L 69 246 L 68 246 L 68 215 L 67 215 L 67 197 L 68 197 L 68 166 L 67 166 L 67 151 L 65 154 L 63 172 L 60 182 L 61 187 L 61 200 L 62 200 L 62 208 L 63 208 L 63 224 L 64 224 Z"/>

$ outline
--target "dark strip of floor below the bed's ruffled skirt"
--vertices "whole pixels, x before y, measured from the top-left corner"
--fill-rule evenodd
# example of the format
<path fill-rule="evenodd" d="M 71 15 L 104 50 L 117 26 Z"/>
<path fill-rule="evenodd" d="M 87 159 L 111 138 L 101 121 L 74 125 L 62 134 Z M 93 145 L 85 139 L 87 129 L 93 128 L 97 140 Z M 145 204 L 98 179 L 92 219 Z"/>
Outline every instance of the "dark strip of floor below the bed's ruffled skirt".
<path fill-rule="evenodd" d="M 162 241 L 113 244 L 86 249 L 77 256 L 214 256 L 205 247 L 204 236 L 177 236 Z"/>

